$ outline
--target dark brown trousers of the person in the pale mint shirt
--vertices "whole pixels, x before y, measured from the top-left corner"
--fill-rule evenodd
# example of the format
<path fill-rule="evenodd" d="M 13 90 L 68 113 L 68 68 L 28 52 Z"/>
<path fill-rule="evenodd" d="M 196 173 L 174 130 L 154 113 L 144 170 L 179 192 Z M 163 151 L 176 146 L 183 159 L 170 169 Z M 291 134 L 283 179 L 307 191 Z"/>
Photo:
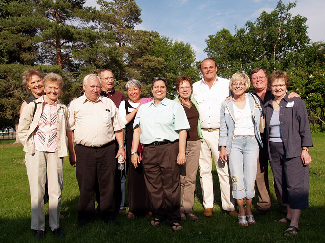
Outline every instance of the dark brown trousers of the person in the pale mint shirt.
<path fill-rule="evenodd" d="M 178 142 L 143 148 L 142 167 L 153 214 L 168 222 L 180 223 L 180 177 Z"/>

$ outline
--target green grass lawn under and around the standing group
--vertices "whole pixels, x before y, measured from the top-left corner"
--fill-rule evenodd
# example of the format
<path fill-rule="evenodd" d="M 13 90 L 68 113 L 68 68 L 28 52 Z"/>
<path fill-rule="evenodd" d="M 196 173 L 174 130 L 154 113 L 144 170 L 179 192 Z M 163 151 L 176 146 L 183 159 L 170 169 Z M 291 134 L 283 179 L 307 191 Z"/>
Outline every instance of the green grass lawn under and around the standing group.
<path fill-rule="evenodd" d="M 153 242 L 153 243 L 210 243 L 210 242 L 325 242 L 325 134 L 313 135 L 314 148 L 310 149 L 313 162 L 310 165 L 309 209 L 303 210 L 300 218 L 299 234 L 292 238 L 282 236 L 288 223 L 273 222 L 281 217 L 275 199 L 273 174 L 269 168 L 272 207 L 264 216 L 256 218 L 255 226 L 242 227 L 238 220 L 226 215 L 221 210 L 220 188 L 214 168 L 214 208 L 213 218 L 203 216 L 202 195 L 199 180 L 195 193 L 194 213 L 197 222 L 185 221 L 183 230 L 172 232 L 167 222 L 161 226 L 150 226 L 151 219 L 117 215 L 118 224 L 108 225 L 100 220 L 77 230 L 77 202 L 79 189 L 75 168 L 64 159 L 64 189 L 62 191 L 61 228 L 66 237 L 60 242 Z M 13 142 L 13 141 L 12 141 Z M 34 232 L 30 229 L 30 194 L 29 183 L 24 165 L 22 146 L 0 141 L 0 242 L 34 242 Z M 198 177 L 197 177 L 198 178 Z M 256 199 L 253 211 L 256 210 Z M 45 208 L 48 206 L 46 205 Z M 47 209 L 46 209 L 47 210 Z M 49 232 L 46 215 L 46 238 L 42 242 L 57 242 Z"/>

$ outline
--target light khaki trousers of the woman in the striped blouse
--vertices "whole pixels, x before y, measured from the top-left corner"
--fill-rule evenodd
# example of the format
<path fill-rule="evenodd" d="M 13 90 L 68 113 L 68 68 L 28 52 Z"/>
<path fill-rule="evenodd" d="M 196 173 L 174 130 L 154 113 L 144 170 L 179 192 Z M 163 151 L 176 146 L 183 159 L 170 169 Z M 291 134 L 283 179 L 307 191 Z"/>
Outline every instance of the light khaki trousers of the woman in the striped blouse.
<path fill-rule="evenodd" d="M 45 228 L 44 194 L 47 181 L 49 193 L 49 226 L 60 227 L 61 192 L 63 189 L 63 158 L 57 152 L 35 151 L 26 153 L 25 165 L 29 180 L 32 208 L 32 226 L 34 230 Z"/>

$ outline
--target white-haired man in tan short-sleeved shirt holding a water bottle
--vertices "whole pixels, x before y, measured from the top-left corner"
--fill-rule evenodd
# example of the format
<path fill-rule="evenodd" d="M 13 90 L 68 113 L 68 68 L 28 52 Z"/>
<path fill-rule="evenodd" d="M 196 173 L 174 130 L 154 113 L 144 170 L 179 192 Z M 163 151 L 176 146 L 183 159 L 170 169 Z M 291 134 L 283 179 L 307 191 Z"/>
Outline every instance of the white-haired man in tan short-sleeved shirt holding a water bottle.
<path fill-rule="evenodd" d="M 76 167 L 80 198 L 78 201 L 78 228 L 95 218 L 94 185 L 96 175 L 100 188 L 100 211 L 104 222 L 116 223 L 114 207 L 114 177 L 116 157 L 123 155 L 125 127 L 112 100 L 100 96 L 98 76 L 84 78 L 84 95 L 68 105 L 68 149 L 70 164 Z M 119 149 L 115 154 L 115 138 Z M 74 146 L 76 142 L 76 146 Z"/>

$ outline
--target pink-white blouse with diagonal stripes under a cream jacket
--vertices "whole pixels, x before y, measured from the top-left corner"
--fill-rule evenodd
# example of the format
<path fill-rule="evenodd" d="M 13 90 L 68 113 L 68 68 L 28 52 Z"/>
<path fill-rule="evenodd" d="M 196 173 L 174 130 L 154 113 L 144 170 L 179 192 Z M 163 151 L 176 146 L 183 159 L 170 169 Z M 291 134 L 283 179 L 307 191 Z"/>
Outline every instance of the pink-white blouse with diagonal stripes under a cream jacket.
<path fill-rule="evenodd" d="M 42 115 L 34 130 L 35 150 L 57 152 L 57 101 L 52 104 L 43 99 Z"/>

